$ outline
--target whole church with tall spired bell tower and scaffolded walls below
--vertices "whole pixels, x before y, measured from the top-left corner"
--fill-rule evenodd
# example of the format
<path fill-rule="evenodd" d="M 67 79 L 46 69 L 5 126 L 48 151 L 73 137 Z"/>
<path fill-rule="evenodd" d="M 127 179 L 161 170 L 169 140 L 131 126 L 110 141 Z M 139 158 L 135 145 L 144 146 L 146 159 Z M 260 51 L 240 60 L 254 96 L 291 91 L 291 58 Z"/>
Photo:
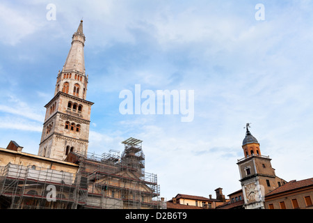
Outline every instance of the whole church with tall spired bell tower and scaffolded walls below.
<path fill-rule="evenodd" d="M 1 209 L 156 209 L 157 175 L 145 172 L 142 141 L 122 141 L 125 149 L 88 153 L 90 111 L 86 100 L 81 20 L 70 52 L 56 77 L 38 155 L 24 153 L 16 141 L 0 148 Z"/>

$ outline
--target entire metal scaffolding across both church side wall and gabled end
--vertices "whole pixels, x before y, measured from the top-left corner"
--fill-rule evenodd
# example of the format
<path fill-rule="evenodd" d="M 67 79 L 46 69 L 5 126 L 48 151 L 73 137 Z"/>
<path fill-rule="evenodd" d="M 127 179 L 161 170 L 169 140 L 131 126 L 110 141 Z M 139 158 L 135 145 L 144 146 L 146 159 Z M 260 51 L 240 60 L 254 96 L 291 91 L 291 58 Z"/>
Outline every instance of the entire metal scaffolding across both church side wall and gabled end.
<path fill-rule="evenodd" d="M 157 175 L 144 171 L 141 142 L 123 141 L 121 156 L 113 150 L 71 152 L 70 160 L 79 164 L 75 174 L 11 163 L 0 167 L 0 208 L 160 208 Z"/>

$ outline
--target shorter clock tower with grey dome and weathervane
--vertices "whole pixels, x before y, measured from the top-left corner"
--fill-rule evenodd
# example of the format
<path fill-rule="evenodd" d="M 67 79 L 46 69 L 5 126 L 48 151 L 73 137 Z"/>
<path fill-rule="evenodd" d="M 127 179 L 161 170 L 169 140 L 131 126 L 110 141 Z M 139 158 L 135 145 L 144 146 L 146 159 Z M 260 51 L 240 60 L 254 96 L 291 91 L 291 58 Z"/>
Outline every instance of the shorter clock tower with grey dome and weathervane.
<path fill-rule="evenodd" d="M 286 181 L 275 175 L 269 156 L 261 154 L 259 142 L 246 125 L 246 137 L 243 139 L 243 154 L 238 160 L 240 182 L 246 209 L 264 209 L 265 194 L 280 187 Z"/>

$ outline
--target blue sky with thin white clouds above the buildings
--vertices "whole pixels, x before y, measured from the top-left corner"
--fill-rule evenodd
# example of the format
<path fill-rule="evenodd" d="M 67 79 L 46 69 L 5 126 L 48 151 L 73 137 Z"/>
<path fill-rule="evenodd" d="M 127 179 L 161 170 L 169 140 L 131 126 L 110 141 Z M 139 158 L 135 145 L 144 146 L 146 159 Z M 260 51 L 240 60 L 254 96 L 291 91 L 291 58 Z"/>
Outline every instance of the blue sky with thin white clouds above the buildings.
<path fill-rule="evenodd" d="M 17 3 L 18 2 L 18 3 Z M 56 20 L 47 20 L 47 5 Z M 265 20 L 255 19 L 257 3 Z M 1 1 L 0 147 L 38 153 L 44 106 L 83 17 L 89 152 L 143 140 L 161 197 L 241 188 L 237 159 L 252 123 L 284 180 L 312 177 L 312 1 Z M 194 119 L 122 115 L 120 91 L 193 90 Z M 213 197 L 214 197 L 213 196 Z"/>

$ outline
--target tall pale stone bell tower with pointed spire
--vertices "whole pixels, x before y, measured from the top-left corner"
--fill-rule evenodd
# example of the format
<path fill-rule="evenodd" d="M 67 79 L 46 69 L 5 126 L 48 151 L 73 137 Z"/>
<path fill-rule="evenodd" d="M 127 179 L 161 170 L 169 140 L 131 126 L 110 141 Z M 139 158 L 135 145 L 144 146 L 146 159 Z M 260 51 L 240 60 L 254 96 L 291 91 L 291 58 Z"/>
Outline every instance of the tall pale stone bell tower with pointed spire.
<path fill-rule="evenodd" d="M 72 46 L 56 78 L 54 98 L 47 105 L 38 155 L 65 160 L 68 153 L 88 151 L 90 109 L 86 100 L 88 75 L 85 71 L 83 21 L 72 36 Z"/>

